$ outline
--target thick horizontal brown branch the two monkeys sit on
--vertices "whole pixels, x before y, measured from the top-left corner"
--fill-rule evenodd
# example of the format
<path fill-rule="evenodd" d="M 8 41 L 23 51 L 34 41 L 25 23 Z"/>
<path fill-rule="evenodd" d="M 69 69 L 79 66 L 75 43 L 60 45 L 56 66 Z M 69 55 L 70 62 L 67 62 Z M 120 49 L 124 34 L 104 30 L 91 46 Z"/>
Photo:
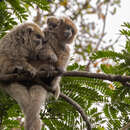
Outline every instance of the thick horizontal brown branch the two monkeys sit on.
<path fill-rule="evenodd" d="M 97 73 L 89 73 L 89 72 L 77 72 L 77 71 L 70 71 L 70 72 L 64 72 L 62 74 L 59 74 L 57 71 L 53 72 L 54 76 L 73 76 L 73 77 L 87 77 L 87 78 L 96 78 L 96 79 L 102 79 L 102 80 L 109 80 L 109 81 L 118 81 L 121 82 L 125 86 L 130 87 L 130 76 L 121 76 L 121 75 L 106 75 L 106 74 L 97 74 Z M 42 71 L 37 74 L 37 78 L 39 77 L 46 77 L 47 73 Z M 28 80 L 32 81 L 34 80 L 31 76 L 26 75 L 18 75 L 18 74 L 0 74 L 0 81 L 23 81 Z"/>

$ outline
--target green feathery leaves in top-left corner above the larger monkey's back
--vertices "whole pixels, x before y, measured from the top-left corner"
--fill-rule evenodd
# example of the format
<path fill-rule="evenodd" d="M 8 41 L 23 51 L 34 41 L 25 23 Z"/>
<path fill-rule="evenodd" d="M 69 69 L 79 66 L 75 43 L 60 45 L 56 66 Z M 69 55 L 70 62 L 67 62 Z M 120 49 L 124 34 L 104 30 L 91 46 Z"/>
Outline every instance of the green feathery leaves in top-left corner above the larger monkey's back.
<path fill-rule="evenodd" d="M 37 5 L 43 10 L 49 9 L 48 0 L 2 0 L 0 1 L 0 38 L 18 24 L 18 20 L 27 20 L 29 7 Z M 16 20 L 17 18 L 17 20 Z"/>

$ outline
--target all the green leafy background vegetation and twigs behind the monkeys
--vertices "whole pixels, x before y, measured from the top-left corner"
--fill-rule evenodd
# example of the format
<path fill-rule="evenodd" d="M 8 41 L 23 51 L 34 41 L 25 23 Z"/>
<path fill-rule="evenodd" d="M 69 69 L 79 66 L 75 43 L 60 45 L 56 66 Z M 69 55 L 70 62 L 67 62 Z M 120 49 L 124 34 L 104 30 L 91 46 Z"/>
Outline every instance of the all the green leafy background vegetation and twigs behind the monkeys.
<path fill-rule="evenodd" d="M 0 38 L 25 20 L 31 19 L 43 27 L 47 16 L 64 14 L 70 16 L 79 29 L 69 71 L 130 76 L 130 23 L 122 23 L 120 34 L 126 37 L 126 43 L 121 52 L 113 48 L 118 38 L 109 42 L 105 39 L 107 15 L 114 15 L 118 6 L 120 0 L 1 0 Z M 64 77 L 61 89 L 84 109 L 93 130 L 119 130 L 130 123 L 130 87 L 126 84 Z M 41 119 L 43 130 L 86 130 L 81 115 L 63 99 L 48 100 Z M 2 91 L 0 129 L 24 129 L 19 106 Z"/>

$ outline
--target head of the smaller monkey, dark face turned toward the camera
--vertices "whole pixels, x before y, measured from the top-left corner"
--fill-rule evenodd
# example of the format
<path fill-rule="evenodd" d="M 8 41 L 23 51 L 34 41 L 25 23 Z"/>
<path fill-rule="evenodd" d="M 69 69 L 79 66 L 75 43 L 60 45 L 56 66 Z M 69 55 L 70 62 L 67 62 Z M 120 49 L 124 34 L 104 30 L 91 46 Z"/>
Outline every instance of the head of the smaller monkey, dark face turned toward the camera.
<path fill-rule="evenodd" d="M 55 34 L 58 40 L 66 44 L 72 43 L 77 34 L 75 24 L 67 17 L 56 18 L 51 16 L 47 19 L 47 25 L 48 29 Z"/>

